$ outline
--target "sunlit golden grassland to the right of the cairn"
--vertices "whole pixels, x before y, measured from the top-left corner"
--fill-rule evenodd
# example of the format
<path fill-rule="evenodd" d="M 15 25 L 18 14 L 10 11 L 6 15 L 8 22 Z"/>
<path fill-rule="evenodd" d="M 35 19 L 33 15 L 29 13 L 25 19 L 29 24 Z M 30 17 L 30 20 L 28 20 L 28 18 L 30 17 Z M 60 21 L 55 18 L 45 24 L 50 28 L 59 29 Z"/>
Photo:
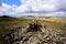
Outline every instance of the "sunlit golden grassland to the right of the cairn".
<path fill-rule="evenodd" d="M 66 30 L 66 18 L 50 18 L 44 19 L 44 21 L 43 24 L 46 24 L 47 26 Z"/>

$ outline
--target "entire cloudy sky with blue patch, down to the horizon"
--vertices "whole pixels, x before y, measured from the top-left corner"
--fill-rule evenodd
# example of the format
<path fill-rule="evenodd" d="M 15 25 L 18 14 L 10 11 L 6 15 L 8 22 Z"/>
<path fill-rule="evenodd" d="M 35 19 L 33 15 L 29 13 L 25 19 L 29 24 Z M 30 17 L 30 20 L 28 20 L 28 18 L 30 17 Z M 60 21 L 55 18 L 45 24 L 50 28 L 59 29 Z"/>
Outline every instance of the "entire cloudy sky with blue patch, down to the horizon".
<path fill-rule="evenodd" d="M 66 0 L 2 0 L 0 15 L 4 14 L 12 16 L 66 16 Z"/>

